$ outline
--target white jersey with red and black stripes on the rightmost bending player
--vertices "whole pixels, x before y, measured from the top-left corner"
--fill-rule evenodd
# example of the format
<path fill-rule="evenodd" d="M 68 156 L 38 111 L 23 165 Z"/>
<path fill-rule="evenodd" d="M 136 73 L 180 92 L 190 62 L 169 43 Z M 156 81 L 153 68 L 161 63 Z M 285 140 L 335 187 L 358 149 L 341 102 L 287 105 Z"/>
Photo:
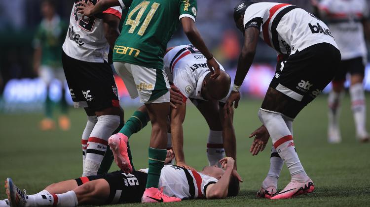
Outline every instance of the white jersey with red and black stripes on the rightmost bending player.
<path fill-rule="evenodd" d="M 288 3 L 260 2 L 250 5 L 244 14 L 244 26 L 258 28 L 260 37 L 278 54 L 295 54 L 297 50 L 324 42 L 337 48 L 324 22 Z"/>

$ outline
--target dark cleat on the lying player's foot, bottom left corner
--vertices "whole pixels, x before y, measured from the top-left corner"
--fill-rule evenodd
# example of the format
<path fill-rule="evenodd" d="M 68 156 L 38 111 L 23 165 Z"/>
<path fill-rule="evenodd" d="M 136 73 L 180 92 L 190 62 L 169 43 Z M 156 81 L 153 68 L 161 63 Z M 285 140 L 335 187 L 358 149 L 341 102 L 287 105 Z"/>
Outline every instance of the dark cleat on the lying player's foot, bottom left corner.
<path fill-rule="evenodd" d="M 11 207 L 24 207 L 27 202 L 26 190 L 23 192 L 13 183 L 10 177 L 5 180 L 5 192 Z"/>

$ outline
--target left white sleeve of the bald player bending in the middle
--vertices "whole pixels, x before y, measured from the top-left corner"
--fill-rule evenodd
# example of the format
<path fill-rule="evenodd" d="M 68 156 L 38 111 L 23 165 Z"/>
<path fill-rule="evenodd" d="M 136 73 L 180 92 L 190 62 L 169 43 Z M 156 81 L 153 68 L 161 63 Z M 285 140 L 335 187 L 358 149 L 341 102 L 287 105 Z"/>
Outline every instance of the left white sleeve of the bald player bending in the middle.
<path fill-rule="evenodd" d="M 185 103 L 189 95 L 195 90 L 190 75 L 185 70 L 175 68 L 173 71 L 173 83 L 179 88 L 179 93 L 183 96 L 183 102 Z"/>

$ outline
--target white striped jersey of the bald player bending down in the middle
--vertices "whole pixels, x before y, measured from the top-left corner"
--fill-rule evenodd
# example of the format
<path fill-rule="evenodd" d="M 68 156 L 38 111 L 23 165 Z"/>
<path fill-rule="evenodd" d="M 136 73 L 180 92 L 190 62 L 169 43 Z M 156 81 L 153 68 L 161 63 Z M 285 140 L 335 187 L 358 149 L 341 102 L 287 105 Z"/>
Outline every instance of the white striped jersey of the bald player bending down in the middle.
<path fill-rule="evenodd" d="M 193 45 L 177 46 L 164 56 L 163 63 L 168 80 L 180 89 L 184 102 L 187 98 L 204 100 L 202 83 L 210 70 L 207 59 L 198 49 Z M 224 71 L 221 64 L 220 69 Z M 220 101 L 225 102 L 226 97 Z"/>

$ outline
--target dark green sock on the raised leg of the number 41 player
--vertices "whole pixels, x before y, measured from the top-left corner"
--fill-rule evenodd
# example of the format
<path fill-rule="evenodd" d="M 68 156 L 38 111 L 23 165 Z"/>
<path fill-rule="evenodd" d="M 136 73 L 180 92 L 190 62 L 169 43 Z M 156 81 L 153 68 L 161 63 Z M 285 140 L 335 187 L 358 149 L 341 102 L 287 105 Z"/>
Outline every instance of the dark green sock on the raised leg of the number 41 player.
<path fill-rule="evenodd" d="M 149 117 L 147 113 L 135 111 L 119 132 L 130 138 L 132 134 L 144 128 L 148 124 L 148 121 Z"/>

